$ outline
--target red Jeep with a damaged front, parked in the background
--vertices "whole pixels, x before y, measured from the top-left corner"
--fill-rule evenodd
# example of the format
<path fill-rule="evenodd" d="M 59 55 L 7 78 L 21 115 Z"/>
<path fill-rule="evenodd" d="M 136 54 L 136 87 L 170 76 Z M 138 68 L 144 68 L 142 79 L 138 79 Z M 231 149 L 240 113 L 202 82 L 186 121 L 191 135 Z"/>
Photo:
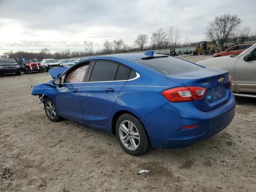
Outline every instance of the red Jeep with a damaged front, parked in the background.
<path fill-rule="evenodd" d="M 44 68 L 38 62 L 37 58 L 31 59 L 31 58 L 22 58 L 22 70 L 24 73 L 29 74 L 29 72 L 44 72 Z"/>

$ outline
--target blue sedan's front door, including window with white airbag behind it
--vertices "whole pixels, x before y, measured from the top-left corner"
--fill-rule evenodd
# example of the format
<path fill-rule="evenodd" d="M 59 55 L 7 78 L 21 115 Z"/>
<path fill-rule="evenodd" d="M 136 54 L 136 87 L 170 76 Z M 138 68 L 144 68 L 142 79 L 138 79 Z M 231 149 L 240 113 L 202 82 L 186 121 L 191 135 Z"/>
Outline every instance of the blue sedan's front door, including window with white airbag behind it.
<path fill-rule="evenodd" d="M 74 66 L 62 76 L 62 85 L 56 87 L 56 105 L 60 115 L 82 121 L 80 90 L 89 64 L 84 62 Z"/>

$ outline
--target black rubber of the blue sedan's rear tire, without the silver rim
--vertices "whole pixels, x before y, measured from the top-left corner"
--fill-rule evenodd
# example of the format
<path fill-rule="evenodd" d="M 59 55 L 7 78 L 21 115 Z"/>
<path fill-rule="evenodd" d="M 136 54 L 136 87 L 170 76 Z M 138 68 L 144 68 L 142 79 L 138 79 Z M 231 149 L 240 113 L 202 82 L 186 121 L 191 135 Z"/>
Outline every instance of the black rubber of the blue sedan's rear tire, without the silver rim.
<path fill-rule="evenodd" d="M 132 124 L 134 124 L 134 126 L 138 130 L 140 142 L 139 142 L 138 148 L 136 148 L 136 150 L 129 150 L 128 148 L 126 148 L 120 139 L 119 126 L 120 126 L 120 124 L 122 124 L 125 121 L 132 122 Z M 116 136 L 117 136 L 120 146 L 128 154 L 131 154 L 134 156 L 139 156 L 139 155 L 143 154 L 144 152 L 146 152 L 150 148 L 150 140 L 148 138 L 148 134 L 147 134 L 144 126 L 142 125 L 141 121 L 138 118 L 136 118 L 135 116 L 133 116 L 131 114 L 123 114 L 118 118 L 118 120 L 116 122 Z"/>

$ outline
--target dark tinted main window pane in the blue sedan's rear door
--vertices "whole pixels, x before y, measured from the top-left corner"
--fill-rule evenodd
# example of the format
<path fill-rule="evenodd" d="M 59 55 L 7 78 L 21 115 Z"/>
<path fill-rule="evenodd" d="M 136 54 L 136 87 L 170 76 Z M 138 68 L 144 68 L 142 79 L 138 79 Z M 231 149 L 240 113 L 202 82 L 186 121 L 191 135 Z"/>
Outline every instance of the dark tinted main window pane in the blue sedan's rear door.
<path fill-rule="evenodd" d="M 90 76 L 90 82 L 114 81 L 118 64 L 108 61 L 96 61 Z"/>

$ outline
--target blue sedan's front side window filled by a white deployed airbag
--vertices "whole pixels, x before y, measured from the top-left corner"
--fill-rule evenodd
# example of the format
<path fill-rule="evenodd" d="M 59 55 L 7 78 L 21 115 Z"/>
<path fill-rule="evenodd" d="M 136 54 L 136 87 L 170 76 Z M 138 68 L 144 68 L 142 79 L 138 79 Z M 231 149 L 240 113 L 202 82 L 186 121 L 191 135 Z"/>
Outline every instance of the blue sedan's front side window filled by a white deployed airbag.
<path fill-rule="evenodd" d="M 83 82 L 90 62 L 80 64 L 66 73 L 64 83 Z"/>

